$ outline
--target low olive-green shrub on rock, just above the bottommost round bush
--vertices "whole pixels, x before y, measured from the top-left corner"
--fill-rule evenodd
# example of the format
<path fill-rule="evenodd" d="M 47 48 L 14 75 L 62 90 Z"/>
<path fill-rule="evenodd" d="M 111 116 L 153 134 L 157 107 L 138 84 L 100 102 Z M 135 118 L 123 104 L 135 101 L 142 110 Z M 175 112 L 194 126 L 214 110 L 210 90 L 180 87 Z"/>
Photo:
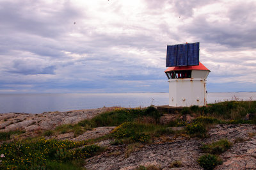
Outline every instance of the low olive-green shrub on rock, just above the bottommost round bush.
<path fill-rule="evenodd" d="M 227 139 L 221 139 L 211 144 L 204 144 L 201 149 L 205 153 L 212 153 L 212 154 L 221 154 L 227 151 L 232 146 Z"/>

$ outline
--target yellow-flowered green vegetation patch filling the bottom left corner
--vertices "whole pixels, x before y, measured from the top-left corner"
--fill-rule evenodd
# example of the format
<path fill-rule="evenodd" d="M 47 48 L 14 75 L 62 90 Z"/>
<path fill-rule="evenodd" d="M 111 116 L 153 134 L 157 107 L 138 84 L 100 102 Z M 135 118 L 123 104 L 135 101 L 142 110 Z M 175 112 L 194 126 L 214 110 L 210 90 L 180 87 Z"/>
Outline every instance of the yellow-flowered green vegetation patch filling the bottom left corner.
<path fill-rule="evenodd" d="M 4 155 L 2 169 L 51 169 L 62 164 L 76 168 L 79 160 L 92 157 L 102 150 L 97 145 L 84 145 L 84 142 L 57 141 L 54 139 L 22 139 L 0 146 Z M 83 147 L 81 147 L 83 146 Z M 81 147 L 81 148 L 79 148 Z"/>

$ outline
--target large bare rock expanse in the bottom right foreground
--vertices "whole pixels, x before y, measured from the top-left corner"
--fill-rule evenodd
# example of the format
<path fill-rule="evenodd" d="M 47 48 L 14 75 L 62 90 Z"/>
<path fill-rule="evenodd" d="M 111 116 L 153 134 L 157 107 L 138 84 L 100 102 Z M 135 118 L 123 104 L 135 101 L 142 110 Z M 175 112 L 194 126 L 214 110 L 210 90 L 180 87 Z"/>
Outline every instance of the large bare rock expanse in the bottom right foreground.
<path fill-rule="evenodd" d="M 146 144 L 127 158 L 125 158 L 127 146 L 124 145 L 122 148 L 109 146 L 109 150 L 120 151 L 120 155 L 113 154 L 107 157 L 102 153 L 102 155 L 90 158 L 84 167 L 86 169 L 134 169 L 153 162 L 162 169 L 170 169 L 170 164 L 179 160 L 182 167 L 177 169 L 203 169 L 196 162 L 198 157 L 204 154 L 200 150 L 202 143 L 212 143 L 224 138 L 234 143 L 237 137 L 240 137 L 247 138 L 248 141 L 234 143 L 230 150 L 222 153 L 220 157 L 223 158 L 223 164 L 217 166 L 216 169 L 253 169 L 256 167 L 256 137 L 250 137 L 248 132 L 256 134 L 255 128 L 255 125 L 216 125 L 209 130 L 209 137 L 205 139 L 188 139 L 169 135 L 168 137 L 172 140 L 166 140 L 166 143 Z"/>

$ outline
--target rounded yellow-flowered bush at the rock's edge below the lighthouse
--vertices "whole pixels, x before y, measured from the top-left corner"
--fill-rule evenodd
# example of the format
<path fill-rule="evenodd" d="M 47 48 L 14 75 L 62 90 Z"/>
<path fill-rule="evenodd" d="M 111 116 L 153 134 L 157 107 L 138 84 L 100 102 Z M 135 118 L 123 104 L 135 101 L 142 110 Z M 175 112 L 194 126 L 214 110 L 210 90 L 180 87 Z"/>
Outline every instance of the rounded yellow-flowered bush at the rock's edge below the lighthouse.
<path fill-rule="evenodd" d="M 191 123 L 191 124 L 186 125 L 186 132 L 189 135 L 204 137 L 206 128 L 202 123 Z"/>

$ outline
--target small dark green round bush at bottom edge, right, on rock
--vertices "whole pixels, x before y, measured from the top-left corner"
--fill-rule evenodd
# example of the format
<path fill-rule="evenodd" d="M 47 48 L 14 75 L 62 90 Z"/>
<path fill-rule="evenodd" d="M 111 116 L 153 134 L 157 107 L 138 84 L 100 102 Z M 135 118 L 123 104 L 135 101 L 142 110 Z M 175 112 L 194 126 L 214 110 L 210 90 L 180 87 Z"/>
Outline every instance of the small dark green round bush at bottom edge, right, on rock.
<path fill-rule="evenodd" d="M 197 162 L 204 169 L 214 169 L 214 167 L 222 164 L 220 157 L 208 153 L 199 157 Z"/>

